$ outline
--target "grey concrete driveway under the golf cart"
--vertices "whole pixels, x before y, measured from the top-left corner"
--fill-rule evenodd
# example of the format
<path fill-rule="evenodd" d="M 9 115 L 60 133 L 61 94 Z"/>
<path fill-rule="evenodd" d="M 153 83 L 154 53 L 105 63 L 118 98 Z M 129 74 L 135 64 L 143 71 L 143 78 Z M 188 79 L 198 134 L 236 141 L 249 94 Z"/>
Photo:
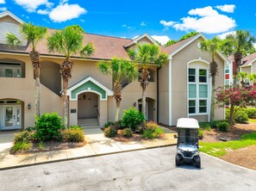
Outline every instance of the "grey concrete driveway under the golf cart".
<path fill-rule="evenodd" d="M 201 153 L 174 165 L 175 146 L 0 171 L 0 190 L 256 190 L 256 172 Z"/>

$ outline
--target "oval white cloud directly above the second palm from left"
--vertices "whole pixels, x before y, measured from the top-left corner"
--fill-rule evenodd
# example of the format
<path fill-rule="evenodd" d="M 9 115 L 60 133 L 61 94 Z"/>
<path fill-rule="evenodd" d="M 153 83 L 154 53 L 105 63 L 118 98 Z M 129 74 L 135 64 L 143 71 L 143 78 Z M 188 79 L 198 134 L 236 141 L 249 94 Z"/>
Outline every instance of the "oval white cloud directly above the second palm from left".
<path fill-rule="evenodd" d="M 78 4 L 60 4 L 50 12 L 50 19 L 53 22 L 66 22 L 74 18 L 78 18 L 82 14 L 86 14 L 87 10 Z"/>

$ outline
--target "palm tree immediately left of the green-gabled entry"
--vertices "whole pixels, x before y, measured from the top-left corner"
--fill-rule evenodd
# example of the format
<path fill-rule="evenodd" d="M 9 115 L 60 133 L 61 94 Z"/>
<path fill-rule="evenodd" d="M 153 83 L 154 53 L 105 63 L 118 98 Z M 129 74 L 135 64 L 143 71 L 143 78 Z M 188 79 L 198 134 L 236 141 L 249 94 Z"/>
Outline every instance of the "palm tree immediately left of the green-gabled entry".
<path fill-rule="evenodd" d="M 68 99 L 66 95 L 68 80 L 72 77 L 73 61 L 71 57 L 80 54 L 81 57 L 90 56 L 94 50 L 92 43 L 86 46 L 83 44 L 83 32 L 74 26 L 68 26 L 62 30 L 56 30 L 47 38 L 49 52 L 59 52 L 65 56 L 60 65 L 60 74 L 63 82 L 63 120 L 64 126 L 67 127 L 68 120 Z"/>

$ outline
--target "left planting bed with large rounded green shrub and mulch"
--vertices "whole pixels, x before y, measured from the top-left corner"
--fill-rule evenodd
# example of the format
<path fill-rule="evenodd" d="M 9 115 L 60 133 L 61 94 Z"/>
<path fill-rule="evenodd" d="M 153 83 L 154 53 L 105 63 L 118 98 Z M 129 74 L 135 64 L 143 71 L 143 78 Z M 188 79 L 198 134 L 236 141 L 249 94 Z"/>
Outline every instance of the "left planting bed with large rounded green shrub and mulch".
<path fill-rule="evenodd" d="M 81 126 L 64 127 L 57 113 L 36 117 L 35 126 L 16 132 L 10 154 L 58 151 L 85 145 Z"/>

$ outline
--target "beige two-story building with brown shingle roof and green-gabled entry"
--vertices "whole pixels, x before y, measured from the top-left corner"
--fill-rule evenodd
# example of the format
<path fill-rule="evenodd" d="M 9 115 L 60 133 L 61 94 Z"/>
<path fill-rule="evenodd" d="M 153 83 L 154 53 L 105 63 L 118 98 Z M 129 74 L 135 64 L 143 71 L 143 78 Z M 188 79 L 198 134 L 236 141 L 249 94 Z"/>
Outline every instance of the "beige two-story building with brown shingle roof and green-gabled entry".
<path fill-rule="evenodd" d="M 7 32 L 18 32 L 22 20 L 9 11 L 0 14 L 0 129 L 17 129 L 34 126 L 34 71 L 28 52 L 31 47 L 8 46 L 5 41 Z M 4 32 L 4 33 L 3 33 Z M 53 33 L 53 29 L 48 29 Z M 161 68 L 151 65 L 150 83 L 146 90 L 147 120 L 175 126 L 178 118 L 193 117 L 209 120 L 210 78 L 207 52 L 199 49 L 202 34 L 182 40 L 161 50 L 169 54 L 169 61 Z M 113 98 L 112 77 L 97 70 L 100 60 L 114 56 L 129 59 L 128 48 L 138 44 L 157 44 L 148 34 L 134 40 L 85 34 L 84 43 L 93 42 L 96 51 L 91 57 L 73 57 L 74 67 L 69 82 L 70 125 L 83 123 L 84 119 L 97 119 L 103 124 L 115 119 L 116 102 Z M 59 74 L 63 56 L 47 51 L 47 40 L 38 44 L 41 53 L 41 113 L 57 112 L 62 115 L 61 89 Z M 216 87 L 225 83 L 225 66 L 230 63 L 221 53 L 216 55 L 219 76 Z M 140 65 L 139 65 L 140 67 Z M 121 111 L 134 107 L 141 109 L 141 88 L 138 80 L 123 83 Z M 122 115 L 122 112 L 121 112 Z M 215 119 L 224 118 L 224 109 L 215 110 Z"/>

